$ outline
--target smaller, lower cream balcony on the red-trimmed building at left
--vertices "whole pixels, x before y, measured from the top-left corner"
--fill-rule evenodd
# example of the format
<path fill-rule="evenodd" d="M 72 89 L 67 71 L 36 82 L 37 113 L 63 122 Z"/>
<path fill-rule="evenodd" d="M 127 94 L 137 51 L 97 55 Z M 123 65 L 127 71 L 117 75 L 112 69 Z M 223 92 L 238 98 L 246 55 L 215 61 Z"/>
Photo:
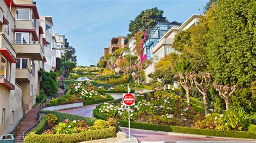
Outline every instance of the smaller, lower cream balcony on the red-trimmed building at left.
<path fill-rule="evenodd" d="M 16 69 L 16 82 L 29 82 L 31 76 L 29 69 Z"/>

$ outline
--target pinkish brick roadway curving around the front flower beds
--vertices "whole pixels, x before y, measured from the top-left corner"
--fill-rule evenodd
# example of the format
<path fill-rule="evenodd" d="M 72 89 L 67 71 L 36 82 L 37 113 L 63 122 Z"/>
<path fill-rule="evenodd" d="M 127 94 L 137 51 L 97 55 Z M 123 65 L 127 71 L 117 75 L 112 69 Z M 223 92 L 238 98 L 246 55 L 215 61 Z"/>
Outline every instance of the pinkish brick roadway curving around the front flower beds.
<path fill-rule="evenodd" d="M 62 110 L 59 112 L 62 113 L 70 113 L 73 115 L 79 115 L 84 117 L 91 117 L 93 113 L 93 109 L 96 108 L 96 105 L 87 105 L 82 108 L 76 108 L 76 109 L 69 109 L 69 110 Z M 122 129 L 123 132 L 126 132 L 128 134 L 127 129 Z M 131 129 L 131 135 L 138 139 L 140 142 L 146 142 L 146 141 L 241 141 L 242 140 L 235 140 L 235 139 L 224 139 L 224 138 L 212 138 L 212 137 L 192 137 L 192 136 L 182 136 L 182 135 L 168 135 L 164 133 L 153 133 L 153 132 L 145 132 L 145 131 L 137 131 Z M 255 140 L 254 140 L 255 141 Z"/>

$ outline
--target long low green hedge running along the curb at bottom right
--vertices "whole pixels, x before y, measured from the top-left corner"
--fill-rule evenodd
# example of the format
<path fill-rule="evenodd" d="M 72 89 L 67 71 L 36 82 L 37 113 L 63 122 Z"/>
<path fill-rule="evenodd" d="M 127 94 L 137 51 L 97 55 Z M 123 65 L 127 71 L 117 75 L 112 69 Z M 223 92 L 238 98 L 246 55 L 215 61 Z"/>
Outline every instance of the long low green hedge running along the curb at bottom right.
<path fill-rule="evenodd" d="M 95 116 L 98 119 L 107 120 L 107 117 L 100 115 L 98 108 L 93 110 L 93 116 Z M 118 121 L 119 121 L 119 126 L 128 127 L 128 121 L 119 120 L 119 119 Z M 192 128 L 192 127 L 154 125 L 154 124 L 138 123 L 135 121 L 131 121 L 130 125 L 131 125 L 131 128 L 139 128 L 143 130 L 210 135 L 210 136 L 216 136 L 216 137 L 256 139 L 255 133 L 245 132 L 245 131 L 207 130 L 207 129 Z"/>

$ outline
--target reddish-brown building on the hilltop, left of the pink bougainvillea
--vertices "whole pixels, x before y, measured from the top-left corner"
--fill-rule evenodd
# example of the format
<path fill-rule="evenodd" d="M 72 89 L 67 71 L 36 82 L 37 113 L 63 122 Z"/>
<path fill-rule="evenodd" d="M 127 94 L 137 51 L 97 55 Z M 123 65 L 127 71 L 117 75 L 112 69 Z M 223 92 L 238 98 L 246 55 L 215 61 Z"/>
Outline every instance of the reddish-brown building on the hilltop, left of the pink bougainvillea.
<path fill-rule="evenodd" d="M 118 36 L 117 38 L 112 38 L 110 40 L 109 54 L 113 54 L 118 48 L 129 48 L 128 37 Z"/>

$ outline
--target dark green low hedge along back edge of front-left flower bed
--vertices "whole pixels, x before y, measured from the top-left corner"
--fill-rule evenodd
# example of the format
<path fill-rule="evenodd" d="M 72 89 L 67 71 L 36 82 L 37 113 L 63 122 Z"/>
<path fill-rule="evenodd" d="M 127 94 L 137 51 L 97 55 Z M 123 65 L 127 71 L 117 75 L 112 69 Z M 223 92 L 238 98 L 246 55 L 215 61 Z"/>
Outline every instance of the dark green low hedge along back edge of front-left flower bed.
<path fill-rule="evenodd" d="M 72 114 L 69 114 L 69 113 L 60 113 L 60 112 L 57 112 L 57 111 L 44 111 L 44 110 L 41 110 L 40 112 L 44 113 L 45 115 L 49 114 L 49 113 L 53 113 L 54 115 L 56 115 L 58 117 L 58 122 L 61 122 L 61 121 L 65 120 L 65 119 L 69 119 L 69 120 L 84 120 L 86 124 L 92 126 L 93 123 L 95 122 L 95 120 L 97 120 L 95 118 L 88 118 L 88 117 L 83 117 L 83 116 L 78 116 L 78 115 L 72 115 Z"/>

